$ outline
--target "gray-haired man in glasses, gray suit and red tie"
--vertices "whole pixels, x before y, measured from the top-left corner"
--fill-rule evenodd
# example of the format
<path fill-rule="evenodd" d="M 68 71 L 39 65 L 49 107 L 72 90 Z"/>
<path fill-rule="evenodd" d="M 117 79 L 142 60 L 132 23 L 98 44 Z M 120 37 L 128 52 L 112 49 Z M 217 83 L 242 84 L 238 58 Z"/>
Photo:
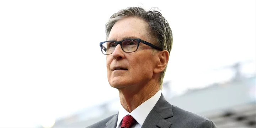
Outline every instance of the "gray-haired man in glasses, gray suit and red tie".
<path fill-rule="evenodd" d="M 168 103 L 160 90 L 172 48 L 169 23 L 158 11 L 128 7 L 106 23 L 109 84 L 118 89 L 117 114 L 89 128 L 215 128 L 214 122 Z"/>

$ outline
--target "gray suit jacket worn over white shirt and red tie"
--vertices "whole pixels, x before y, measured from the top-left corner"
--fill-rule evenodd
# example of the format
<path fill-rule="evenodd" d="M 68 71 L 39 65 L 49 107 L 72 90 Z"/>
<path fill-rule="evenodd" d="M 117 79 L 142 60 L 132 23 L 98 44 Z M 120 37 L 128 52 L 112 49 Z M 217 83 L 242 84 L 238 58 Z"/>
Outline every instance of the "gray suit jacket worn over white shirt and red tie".
<path fill-rule="evenodd" d="M 87 128 L 116 128 L 118 113 Z M 209 119 L 171 105 L 161 94 L 142 128 L 216 128 Z"/>

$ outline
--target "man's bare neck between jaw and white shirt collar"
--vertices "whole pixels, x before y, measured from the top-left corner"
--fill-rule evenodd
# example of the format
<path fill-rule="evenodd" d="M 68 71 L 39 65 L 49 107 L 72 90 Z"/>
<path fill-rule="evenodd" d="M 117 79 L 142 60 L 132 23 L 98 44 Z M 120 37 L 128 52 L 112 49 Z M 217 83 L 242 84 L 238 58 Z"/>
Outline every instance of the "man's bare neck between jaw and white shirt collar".
<path fill-rule="evenodd" d="M 130 113 L 154 96 L 159 89 L 159 82 L 156 81 L 149 81 L 145 85 L 133 85 L 118 89 L 120 103 Z"/>

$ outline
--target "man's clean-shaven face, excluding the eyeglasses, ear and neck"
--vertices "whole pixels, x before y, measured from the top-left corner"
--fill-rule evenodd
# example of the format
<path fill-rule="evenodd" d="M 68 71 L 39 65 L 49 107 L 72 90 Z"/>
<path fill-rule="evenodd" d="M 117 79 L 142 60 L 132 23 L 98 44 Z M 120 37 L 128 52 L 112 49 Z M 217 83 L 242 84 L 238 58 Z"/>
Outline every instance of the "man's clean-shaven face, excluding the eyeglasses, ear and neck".
<path fill-rule="evenodd" d="M 129 17 L 119 20 L 111 29 L 108 41 L 122 41 L 126 38 L 140 38 L 153 43 L 146 33 L 145 21 Z M 107 76 L 112 87 L 123 88 L 128 86 L 143 86 L 154 73 L 157 57 L 152 49 L 143 43 L 139 44 L 136 52 L 123 52 L 118 44 L 114 52 L 107 55 Z"/>

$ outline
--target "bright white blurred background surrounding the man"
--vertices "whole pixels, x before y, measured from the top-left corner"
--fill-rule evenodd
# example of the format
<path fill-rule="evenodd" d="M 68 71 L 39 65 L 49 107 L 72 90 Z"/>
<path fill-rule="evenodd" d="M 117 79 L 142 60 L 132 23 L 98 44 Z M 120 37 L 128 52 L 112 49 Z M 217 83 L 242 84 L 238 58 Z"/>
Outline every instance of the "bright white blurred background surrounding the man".
<path fill-rule="evenodd" d="M 0 127 L 87 127 L 118 112 L 105 23 L 158 7 L 174 36 L 161 91 L 217 127 L 256 127 L 255 0 L 1 0 Z"/>

